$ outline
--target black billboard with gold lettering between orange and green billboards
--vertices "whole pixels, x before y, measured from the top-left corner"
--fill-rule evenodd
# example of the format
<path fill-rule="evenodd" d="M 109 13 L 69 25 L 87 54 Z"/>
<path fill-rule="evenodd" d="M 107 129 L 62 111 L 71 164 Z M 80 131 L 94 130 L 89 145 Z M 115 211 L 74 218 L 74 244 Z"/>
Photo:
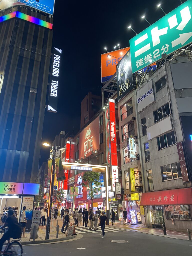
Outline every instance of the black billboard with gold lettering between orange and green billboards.
<path fill-rule="evenodd" d="M 133 90 L 133 75 L 131 68 L 131 52 L 126 52 L 125 56 L 117 64 L 117 98 L 120 101 Z"/>

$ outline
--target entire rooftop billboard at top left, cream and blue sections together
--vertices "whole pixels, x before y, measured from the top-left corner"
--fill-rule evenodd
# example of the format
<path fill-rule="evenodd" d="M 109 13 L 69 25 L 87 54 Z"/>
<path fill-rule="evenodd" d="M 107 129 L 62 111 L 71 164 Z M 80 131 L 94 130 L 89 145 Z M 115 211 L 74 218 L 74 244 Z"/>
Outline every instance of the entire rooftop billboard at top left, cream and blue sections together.
<path fill-rule="evenodd" d="M 53 15 L 55 0 L 40 0 L 37 2 L 36 0 L 3 0 L 0 1 L 0 9 L 5 10 L 14 6 L 28 6 L 34 9 L 37 9 L 41 12 Z"/>

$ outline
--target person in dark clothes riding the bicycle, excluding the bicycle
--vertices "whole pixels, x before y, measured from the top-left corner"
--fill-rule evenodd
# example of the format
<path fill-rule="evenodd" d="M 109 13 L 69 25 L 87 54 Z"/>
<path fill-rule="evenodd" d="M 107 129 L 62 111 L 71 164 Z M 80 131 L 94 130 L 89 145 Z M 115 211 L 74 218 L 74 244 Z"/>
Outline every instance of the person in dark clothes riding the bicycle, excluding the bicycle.
<path fill-rule="evenodd" d="M 0 229 L 4 229 L 5 227 L 9 228 L 0 240 L 0 255 L 3 253 L 3 244 L 6 240 L 10 240 L 10 238 L 16 239 L 21 237 L 21 228 L 17 223 L 17 218 L 13 216 L 13 210 L 8 210 L 6 222 L 3 226 L 0 227 Z"/>

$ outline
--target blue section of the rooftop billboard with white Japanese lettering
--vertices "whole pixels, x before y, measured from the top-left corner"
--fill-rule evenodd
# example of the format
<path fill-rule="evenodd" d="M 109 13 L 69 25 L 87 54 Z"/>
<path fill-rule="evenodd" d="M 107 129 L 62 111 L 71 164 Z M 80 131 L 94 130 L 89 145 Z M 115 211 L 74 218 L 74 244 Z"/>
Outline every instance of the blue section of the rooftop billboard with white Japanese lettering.
<path fill-rule="evenodd" d="M 55 0 L 40 0 L 39 3 L 36 0 L 16 0 L 14 5 L 18 4 L 37 8 L 41 12 L 53 15 Z"/>

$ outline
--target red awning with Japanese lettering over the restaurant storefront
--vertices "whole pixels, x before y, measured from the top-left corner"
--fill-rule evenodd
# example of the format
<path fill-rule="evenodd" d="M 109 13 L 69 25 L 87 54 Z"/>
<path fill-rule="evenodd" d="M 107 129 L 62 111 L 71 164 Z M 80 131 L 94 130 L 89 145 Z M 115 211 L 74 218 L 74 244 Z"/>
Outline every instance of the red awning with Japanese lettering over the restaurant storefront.
<path fill-rule="evenodd" d="M 140 205 L 192 205 L 192 188 L 143 193 Z"/>

